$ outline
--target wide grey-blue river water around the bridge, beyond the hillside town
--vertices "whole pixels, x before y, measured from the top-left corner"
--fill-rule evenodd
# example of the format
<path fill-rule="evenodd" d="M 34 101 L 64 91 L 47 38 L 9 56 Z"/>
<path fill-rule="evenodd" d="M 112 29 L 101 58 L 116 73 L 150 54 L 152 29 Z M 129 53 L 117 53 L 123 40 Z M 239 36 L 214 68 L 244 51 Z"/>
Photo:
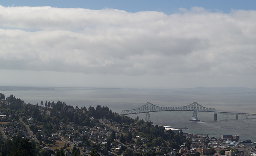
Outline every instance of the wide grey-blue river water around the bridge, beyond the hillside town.
<path fill-rule="evenodd" d="M 45 101 L 64 101 L 68 105 L 89 107 L 108 106 L 112 111 L 135 109 L 150 102 L 158 106 L 185 106 L 194 101 L 217 111 L 256 113 L 255 90 L 195 90 L 195 89 L 118 89 L 118 88 L 54 88 L 54 90 L 20 90 L 1 91 L 6 95 L 13 94 L 26 103 L 40 104 Z M 158 125 L 174 128 L 185 128 L 184 132 L 209 134 L 220 138 L 221 135 L 240 135 L 240 140 L 256 141 L 256 117 L 218 115 L 213 121 L 214 113 L 197 112 L 200 122 L 189 121 L 193 111 L 163 111 L 150 113 L 151 121 Z M 145 119 L 146 114 L 128 115 Z"/>

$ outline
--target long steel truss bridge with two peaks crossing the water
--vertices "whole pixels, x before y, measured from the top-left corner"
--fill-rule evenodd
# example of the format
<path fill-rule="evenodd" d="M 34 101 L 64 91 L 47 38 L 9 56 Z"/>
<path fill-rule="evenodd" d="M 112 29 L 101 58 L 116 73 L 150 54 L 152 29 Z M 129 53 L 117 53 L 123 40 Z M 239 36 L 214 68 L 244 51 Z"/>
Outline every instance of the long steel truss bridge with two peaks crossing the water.
<path fill-rule="evenodd" d="M 193 115 L 190 121 L 200 121 L 198 120 L 198 117 L 196 114 L 197 111 L 214 112 L 214 121 L 217 121 L 217 114 L 226 115 L 226 120 L 228 119 L 228 115 L 236 115 L 236 119 L 238 119 L 238 115 L 246 116 L 246 119 L 248 119 L 248 116 L 256 116 L 256 114 L 249 114 L 249 113 L 233 113 L 233 112 L 216 111 L 215 108 L 206 108 L 198 104 L 197 102 L 193 102 L 190 105 L 186 105 L 182 107 L 159 107 L 157 105 L 153 105 L 152 103 L 147 102 L 146 104 L 136 109 L 122 111 L 122 115 L 146 113 L 145 121 L 151 122 L 149 113 L 156 112 L 156 111 L 193 111 Z"/>

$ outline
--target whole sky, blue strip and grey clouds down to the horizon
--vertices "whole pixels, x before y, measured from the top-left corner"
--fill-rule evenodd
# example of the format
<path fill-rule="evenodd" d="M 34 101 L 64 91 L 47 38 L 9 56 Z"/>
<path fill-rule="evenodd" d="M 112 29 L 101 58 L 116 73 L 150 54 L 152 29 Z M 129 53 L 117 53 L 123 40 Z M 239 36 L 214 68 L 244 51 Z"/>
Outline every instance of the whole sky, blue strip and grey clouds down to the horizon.
<path fill-rule="evenodd" d="M 256 88 L 254 0 L 0 2 L 0 86 Z"/>

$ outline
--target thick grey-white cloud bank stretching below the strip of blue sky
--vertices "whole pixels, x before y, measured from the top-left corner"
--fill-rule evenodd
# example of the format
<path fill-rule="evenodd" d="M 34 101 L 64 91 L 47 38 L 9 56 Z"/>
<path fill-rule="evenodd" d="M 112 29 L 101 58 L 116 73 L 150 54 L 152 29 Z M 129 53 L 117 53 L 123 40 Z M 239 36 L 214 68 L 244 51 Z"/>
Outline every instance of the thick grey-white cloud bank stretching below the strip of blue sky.
<path fill-rule="evenodd" d="M 256 11 L 177 14 L 0 6 L 0 68 L 256 76 Z"/>

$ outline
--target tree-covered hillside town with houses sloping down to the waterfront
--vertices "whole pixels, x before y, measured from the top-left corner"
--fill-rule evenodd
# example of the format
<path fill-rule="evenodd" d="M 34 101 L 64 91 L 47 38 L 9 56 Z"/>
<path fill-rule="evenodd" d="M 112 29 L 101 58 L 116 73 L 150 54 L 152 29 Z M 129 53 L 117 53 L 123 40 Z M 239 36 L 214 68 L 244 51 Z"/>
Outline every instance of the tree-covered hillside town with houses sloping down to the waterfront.
<path fill-rule="evenodd" d="M 237 135 L 208 138 L 183 133 L 120 116 L 100 105 L 88 109 L 60 101 L 33 105 L 13 95 L 0 97 L 0 155 L 15 153 L 3 148 L 6 140 L 21 139 L 32 144 L 32 155 L 38 156 L 256 155 L 250 140 L 241 142 Z"/>

